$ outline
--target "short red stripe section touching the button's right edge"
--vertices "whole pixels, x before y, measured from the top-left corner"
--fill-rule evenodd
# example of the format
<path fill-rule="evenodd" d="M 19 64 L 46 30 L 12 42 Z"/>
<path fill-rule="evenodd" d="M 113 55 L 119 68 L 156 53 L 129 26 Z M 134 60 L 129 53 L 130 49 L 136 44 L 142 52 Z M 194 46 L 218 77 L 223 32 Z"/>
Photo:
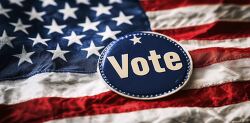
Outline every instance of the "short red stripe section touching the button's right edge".
<path fill-rule="evenodd" d="M 241 58 L 250 58 L 250 48 L 206 48 L 190 51 L 194 67 L 200 68 L 214 63 Z"/>

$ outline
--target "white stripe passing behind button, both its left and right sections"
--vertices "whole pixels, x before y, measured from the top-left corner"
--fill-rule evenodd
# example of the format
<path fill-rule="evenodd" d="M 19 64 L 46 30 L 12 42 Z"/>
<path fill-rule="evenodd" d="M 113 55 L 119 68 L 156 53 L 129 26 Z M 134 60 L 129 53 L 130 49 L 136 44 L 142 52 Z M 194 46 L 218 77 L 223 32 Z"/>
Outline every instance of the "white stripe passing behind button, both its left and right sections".
<path fill-rule="evenodd" d="M 185 89 L 250 80 L 250 59 L 239 59 L 194 69 Z M 42 73 L 28 79 L 0 83 L 0 103 L 14 104 L 40 97 L 81 97 L 108 89 L 96 74 Z"/>

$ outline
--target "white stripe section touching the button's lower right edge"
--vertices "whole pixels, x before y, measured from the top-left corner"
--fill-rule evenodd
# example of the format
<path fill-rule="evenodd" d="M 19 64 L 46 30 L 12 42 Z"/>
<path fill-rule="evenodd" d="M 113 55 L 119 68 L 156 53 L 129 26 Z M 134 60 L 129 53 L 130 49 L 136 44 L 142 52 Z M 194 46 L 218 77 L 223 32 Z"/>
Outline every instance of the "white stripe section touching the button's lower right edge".
<path fill-rule="evenodd" d="M 198 89 L 228 82 L 250 80 L 250 58 L 195 68 L 185 89 Z"/>

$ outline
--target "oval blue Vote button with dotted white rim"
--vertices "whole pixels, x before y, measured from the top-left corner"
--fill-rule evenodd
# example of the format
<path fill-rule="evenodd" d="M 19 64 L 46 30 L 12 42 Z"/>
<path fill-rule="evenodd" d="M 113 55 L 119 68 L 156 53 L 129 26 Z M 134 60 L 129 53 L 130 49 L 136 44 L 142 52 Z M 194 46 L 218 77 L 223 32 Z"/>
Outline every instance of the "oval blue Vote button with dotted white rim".
<path fill-rule="evenodd" d="M 173 94 L 186 84 L 192 67 L 189 53 L 176 41 L 153 32 L 134 32 L 111 42 L 98 61 L 111 90 L 135 99 Z"/>

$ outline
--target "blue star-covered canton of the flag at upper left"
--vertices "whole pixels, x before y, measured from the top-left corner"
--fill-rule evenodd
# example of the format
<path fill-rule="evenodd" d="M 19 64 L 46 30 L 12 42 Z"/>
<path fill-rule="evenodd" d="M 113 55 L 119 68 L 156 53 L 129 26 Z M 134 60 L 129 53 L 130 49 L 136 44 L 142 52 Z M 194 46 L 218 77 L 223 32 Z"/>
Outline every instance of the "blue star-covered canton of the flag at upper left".
<path fill-rule="evenodd" d="M 147 30 L 136 0 L 1 0 L 0 80 L 94 73 L 106 45 Z"/>

